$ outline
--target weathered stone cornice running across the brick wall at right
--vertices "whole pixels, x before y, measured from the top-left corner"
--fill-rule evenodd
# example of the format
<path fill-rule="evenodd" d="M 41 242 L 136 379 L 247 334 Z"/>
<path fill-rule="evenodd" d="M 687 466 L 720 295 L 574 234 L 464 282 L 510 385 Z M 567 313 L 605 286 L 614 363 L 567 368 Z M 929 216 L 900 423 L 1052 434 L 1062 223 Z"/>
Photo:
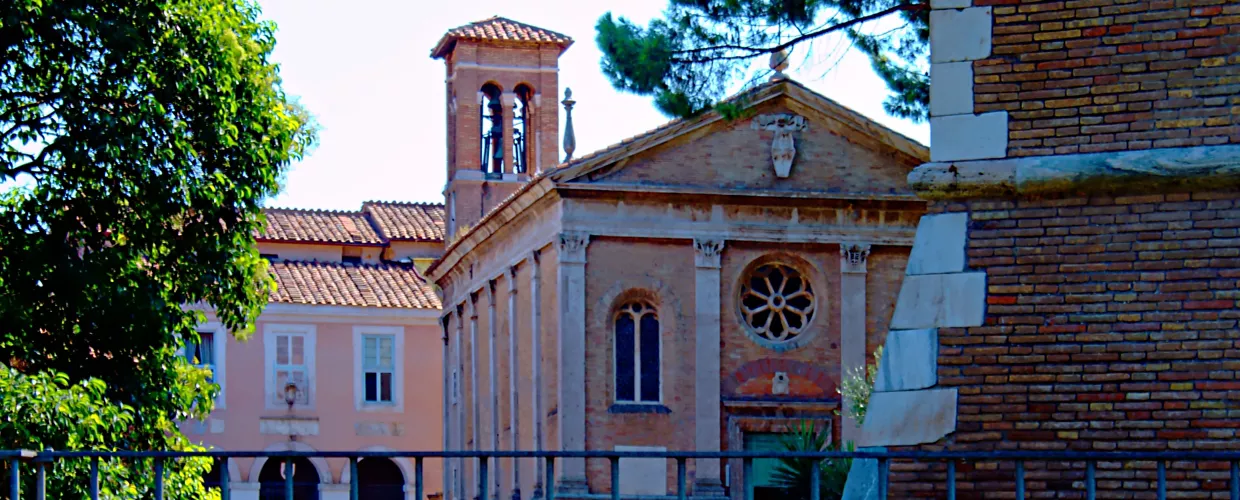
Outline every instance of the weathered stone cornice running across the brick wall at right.
<path fill-rule="evenodd" d="M 1240 145 L 929 163 L 909 174 L 926 200 L 1240 187 Z"/>

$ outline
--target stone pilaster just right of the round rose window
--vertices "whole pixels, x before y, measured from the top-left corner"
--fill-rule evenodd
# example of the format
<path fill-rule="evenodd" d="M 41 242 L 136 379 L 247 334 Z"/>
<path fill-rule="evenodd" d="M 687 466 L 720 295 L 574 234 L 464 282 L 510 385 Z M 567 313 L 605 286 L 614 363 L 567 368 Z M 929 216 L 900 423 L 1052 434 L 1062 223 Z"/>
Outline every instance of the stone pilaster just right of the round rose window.
<path fill-rule="evenodd" d="M 866 370 L 866 261 L 869 243 L 839 244 L 839 380 Z M 841 401 L 839 437 L 844 443 L 856 442 L 861 426 L 847 409 L 851 401 Z"/>

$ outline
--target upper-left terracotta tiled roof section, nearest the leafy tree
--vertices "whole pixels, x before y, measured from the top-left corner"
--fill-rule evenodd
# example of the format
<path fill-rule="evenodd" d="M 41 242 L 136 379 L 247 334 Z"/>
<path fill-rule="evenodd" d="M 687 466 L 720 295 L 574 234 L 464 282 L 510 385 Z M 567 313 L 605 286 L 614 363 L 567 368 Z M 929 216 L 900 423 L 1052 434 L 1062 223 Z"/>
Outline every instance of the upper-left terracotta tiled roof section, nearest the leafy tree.
<path fill-rule="evenodd" d="M 267 223 L 255 238 L 309 243 L 382 244 L 362 212 L 268 208 Z"/>

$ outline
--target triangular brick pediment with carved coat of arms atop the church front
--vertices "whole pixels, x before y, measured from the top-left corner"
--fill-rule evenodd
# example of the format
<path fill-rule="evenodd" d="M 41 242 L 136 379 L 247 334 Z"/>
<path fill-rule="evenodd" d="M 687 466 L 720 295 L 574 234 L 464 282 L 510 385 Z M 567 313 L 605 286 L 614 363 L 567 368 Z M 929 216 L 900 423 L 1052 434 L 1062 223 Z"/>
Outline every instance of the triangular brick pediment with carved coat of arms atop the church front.
<path fill-rule="evenodd" d="M 795 82 L 745 96 L 742 118 L 707 113 L 565 165 L 557 182 L 684 190 L 908 196 L 929 150 Z"/>

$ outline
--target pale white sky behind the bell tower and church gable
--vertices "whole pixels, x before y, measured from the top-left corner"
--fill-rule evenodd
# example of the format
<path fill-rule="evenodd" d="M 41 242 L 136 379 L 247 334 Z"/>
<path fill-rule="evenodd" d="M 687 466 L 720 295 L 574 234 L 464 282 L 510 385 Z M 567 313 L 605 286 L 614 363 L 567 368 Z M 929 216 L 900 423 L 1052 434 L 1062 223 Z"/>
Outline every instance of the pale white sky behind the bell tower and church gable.
<path fill-rule="evenodd" d="M 444 66 L 430 58 L 430 48 L 449 29 L 494 15 L 559 31 L 575 41 L 559 60 L 559 84 L 570 87 L 577 100 L 577 156 L 668 120 L 651 98 L 611 88 L 599 69 L 601 55 L 594 43 L 594 24 L 604 12 L 644 25 L 667 0 L 259 4 L 264 17 L 279 25 L 274 58 L 285 91 L 299 97 L 321 127 L 319 148 L 293 165 L 284 191 L 268 206 L 358 210 L 366 200 L 443 202 Z M 869 60 L 847 50 L 847 43 L 823 38 L 812 51 L 797 47 L 790 60 L 794 79 L 929 144 L 925 124 L 883 112 L 885 84 Z"/>

